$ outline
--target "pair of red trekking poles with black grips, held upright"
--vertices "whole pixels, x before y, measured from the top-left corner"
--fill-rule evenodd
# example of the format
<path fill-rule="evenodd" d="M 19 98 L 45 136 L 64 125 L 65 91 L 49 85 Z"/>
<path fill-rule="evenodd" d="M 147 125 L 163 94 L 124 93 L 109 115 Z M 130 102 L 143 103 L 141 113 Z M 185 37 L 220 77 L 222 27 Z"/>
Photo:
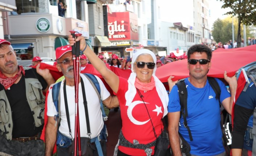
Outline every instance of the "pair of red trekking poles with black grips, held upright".
<path fill-rule="evenodd" d="M 75 37 L 79 37 L 81 36 L 82 34 L 75 34 Z M 80 59 L 79 59 L 79 56 L 80 56 L 80 41 L 77 41 L 75 43 L 75 54 L 76 54 L 76 63 L 74 64 L 75 67 L 75 104 L 76 104 L 76 111 L 77 111 L 77 115 L 76 115 L 76 118 L 75 118 L 75 128 L 77 129 L 77 133 L 75 133 L 75 139 L 78 138 L 78 155 L 81 156 L 82 155 L 82 151 L 81 151 L 81 140 L 80 140 L 80 123 L 79 123 L 79 107 L 78 107 L 78 90 L 79 90 L 79 77 L 80 77 L 80 69 L 79 69 L 79 65 L 80 65 Z M 74 153 L 74 156 L 77 156 L 77 140 L 75 140 L 75 153 Z"/>

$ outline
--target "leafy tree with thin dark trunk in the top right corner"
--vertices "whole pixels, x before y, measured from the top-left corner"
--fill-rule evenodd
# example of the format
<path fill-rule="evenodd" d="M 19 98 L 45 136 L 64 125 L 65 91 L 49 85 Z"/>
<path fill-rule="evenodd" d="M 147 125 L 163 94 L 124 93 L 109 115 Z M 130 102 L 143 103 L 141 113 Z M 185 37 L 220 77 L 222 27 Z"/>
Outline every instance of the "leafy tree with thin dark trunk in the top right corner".
<path fill-rule="evenodd" d="M 238 17 L 238 47 L 241 43 L 241 23 L 245 25 L 256 24 L 256 1 L 255 0 L 219 0 L 224 4 L 222 8 L 230 8 L 231 11 L 226 14 L 231 14 L 233 17 Z"/>

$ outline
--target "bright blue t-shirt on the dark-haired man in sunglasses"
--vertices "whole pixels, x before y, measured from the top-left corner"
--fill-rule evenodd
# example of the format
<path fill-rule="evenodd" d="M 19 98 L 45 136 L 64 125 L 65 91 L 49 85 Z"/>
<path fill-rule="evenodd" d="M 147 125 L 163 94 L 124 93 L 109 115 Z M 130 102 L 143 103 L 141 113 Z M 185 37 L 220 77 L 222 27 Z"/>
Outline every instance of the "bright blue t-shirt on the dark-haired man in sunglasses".
<path fill-rule="evenodd" d="M 221 90 L 220 101 L 230 97 L 226 86 L 222 81 L 216 79 Z M 220 107 L 219 100 L 215 98 L 215 92 L 211 88 L 208 80 L 205 87 L 196 88 L 189 80 L 185 79 L 187 86 L 187 124 L 191 130 L 193 141 L 189 139 L 187 128 L 183 125 L 181 116 L 179 132 L 190 144 L 193 155 L 212 156 L 224 152 L 222 143 L 222 130 L 220 127 Z M 175 85 L 169 94 L 168 112 L 181 110 L 179 103 L 178 88 Z"/>

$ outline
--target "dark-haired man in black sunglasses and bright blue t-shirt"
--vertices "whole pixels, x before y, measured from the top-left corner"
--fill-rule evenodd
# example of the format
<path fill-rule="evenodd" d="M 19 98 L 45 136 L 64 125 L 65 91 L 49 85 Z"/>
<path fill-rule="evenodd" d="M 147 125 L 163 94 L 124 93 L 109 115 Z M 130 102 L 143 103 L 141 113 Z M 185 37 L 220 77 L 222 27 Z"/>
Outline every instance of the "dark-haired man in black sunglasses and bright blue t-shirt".
<path fill-rule="evenodd" d="M 186 119 L 193 141 L 190 141 L 189 132 L 183 125 L 183 117 L 180 116 L 181 105 L 176 85 L 169 94 L 168 130 L 174 156 L 185 156 L 185 153 L 180 150 L 178 132 L 189 143 L 192 156 L 224 156 L 226 154 L 222 143 L 219 101 L 216 100 L 215 92 L 207 80 L 207 73 L 211 68 L 211 57 L 212 51 L 205 45 L 191 46 L 187 52 L 187 68 L 190 77 L 185 79 L 188 112 Z M 216 79 L 221 90 L 219 100 L 224 109 L 231 114 L 237 81 L 235 77 L 228 77 L 226 71 L 224 79 L 230 85 L 231 97 L 222 81 Z"/>

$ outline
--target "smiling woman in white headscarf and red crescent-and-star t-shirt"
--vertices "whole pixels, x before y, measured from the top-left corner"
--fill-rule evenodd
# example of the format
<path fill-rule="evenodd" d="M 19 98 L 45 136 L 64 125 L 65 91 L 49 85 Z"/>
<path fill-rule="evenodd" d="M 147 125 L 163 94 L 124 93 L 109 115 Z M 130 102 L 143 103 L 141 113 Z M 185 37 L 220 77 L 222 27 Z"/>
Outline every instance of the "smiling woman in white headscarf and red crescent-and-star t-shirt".
<path fill-rule="evenodd" d="M 122 128 L 119 134 L 117 156 L 157 155 L 156 139 L 159 136 L 168 138 L 161 120 L 168 113 L 168 94 L 164 85 L 155 76 L 155 54 L 147 49 L 137 51 L 132 58 L 132 73 L 127 80 L 106 68 L 87 46 L 83 37 L 78 37 L 76 41 L 80 41 L 80 50 L 83 50 L 119 99 Z M 69 43 L 71 46 L 75 43 L 71 35 Z M 168 151 L 168 141 L 166 146 Z"/>

